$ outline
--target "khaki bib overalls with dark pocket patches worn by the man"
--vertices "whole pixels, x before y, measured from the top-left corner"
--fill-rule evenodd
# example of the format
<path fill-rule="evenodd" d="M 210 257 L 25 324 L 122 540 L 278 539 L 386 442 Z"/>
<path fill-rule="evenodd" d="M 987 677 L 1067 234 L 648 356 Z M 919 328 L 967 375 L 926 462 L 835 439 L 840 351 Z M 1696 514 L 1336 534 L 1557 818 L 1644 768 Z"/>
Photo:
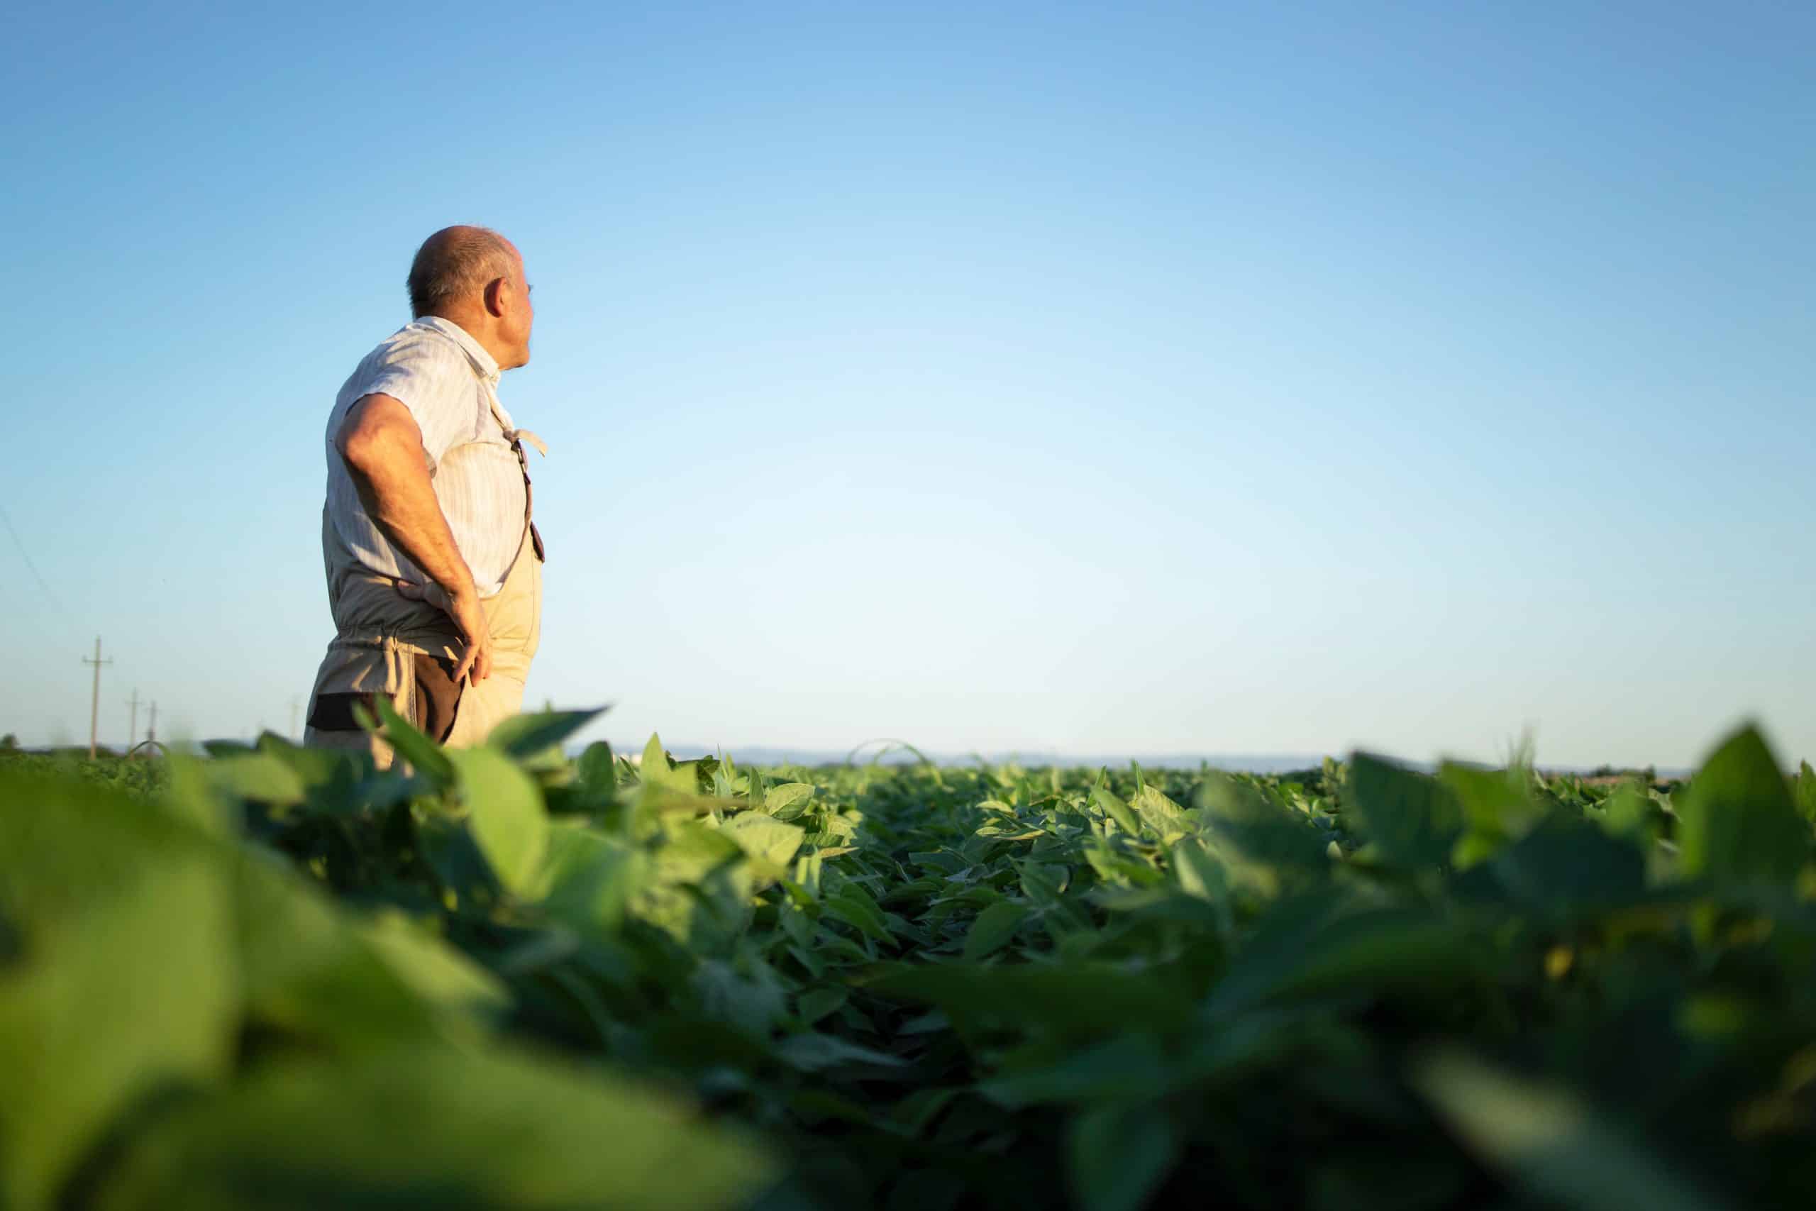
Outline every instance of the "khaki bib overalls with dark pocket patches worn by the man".
<path fill-rule="evenodd" d="M 334 530 L 327 508 L 321 510 L 321 556 L 336 635 L 309 694 L 305 744 L 369 752 L 378 768 L 389 768 L 390 744 L 367 735 L 352 717 L 354 703 L 370 712 L 378 694 L 418 728 L 454 746 L 481 743 L 499 719 L 523 708 L 523 683 L 543 630 L 543 545 L 528 516 L 528 459 L 521 441 L 512 445 L 523 468 L 523 541 L 505 585 L 479 601 L 492 635 L 492 675 L 478 684 L 452 681 L 463 643 L 447 612 L 405 596 L 400 581 L 361 565 Z"/>

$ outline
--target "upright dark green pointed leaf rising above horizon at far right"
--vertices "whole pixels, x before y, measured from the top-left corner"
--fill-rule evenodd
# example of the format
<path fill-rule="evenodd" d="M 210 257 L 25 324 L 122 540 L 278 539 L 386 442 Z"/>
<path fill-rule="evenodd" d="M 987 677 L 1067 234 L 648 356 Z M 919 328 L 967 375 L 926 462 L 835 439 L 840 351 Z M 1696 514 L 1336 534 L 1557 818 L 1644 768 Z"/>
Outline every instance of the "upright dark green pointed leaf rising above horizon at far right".
<path fill-rule="evenodd" d="M 1811 855 L 1785 775 L 1756 728 L 1742 728 L 1678 795 L 1678 862 L 1727 884 L 1789 886 Z"/>

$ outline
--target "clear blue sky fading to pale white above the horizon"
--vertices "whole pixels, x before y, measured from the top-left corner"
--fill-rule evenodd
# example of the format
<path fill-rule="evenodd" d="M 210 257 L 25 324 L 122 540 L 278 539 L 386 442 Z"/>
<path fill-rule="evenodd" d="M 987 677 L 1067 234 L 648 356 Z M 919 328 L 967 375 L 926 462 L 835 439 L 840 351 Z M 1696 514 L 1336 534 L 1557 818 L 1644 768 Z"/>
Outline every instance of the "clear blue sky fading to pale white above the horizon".
<path fill-rule="evenodd" d="M 1807 4 L 18 5 L 0 732 L 283 730 L 321 428 L 501 229 L 530 699 L 1816 757 Z M 140 719 L 143 726 L 143 714 Z"/>

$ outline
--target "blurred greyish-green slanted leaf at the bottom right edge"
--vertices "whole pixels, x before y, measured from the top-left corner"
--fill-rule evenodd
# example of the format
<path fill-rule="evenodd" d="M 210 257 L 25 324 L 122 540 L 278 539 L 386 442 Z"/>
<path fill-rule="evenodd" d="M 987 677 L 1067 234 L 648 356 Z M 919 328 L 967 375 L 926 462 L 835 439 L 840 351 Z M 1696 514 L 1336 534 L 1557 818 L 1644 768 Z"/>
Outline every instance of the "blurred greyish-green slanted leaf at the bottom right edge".
<path fill-rule="evenodd" d="M 1413 1084 L 1485 1162 L 1545 1202 L 1582 1211 L 1718 1211 L 1665 1157 L 1596 1115 L 1567 1089 L 1493 1068 L 1462 1051 L 1429 1055 Z"/>

